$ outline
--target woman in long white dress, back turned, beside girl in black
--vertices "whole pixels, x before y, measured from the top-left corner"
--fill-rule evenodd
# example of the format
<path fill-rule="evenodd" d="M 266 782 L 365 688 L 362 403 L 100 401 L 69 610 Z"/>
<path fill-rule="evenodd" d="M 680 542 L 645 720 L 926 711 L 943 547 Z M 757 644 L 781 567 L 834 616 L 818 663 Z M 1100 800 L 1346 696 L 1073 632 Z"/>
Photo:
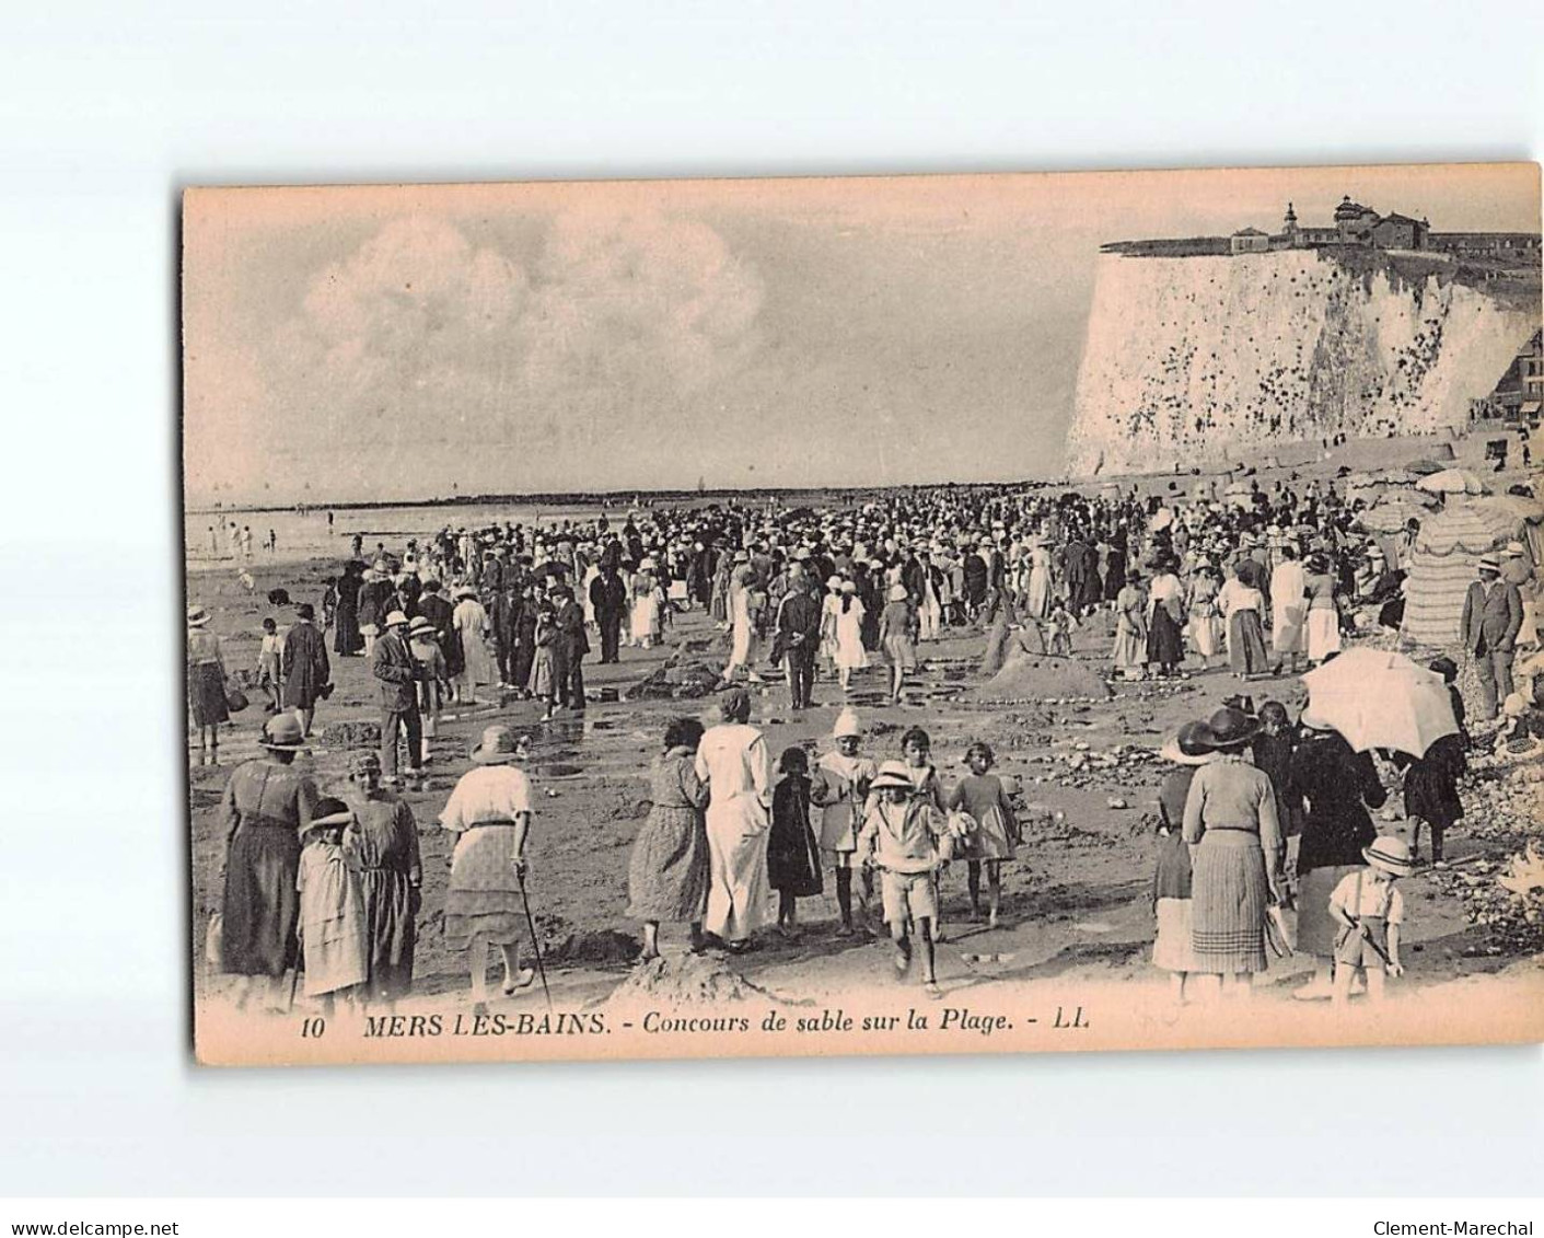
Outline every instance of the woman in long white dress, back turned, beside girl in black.
<path fill-rule="evenodd" d="M 767 827 L 772 778 L 766 741 L 750 726 L 750 695 L 730 688 L 724 718 L 696 750 L 696 776 L 707 784 L 707 914 L 703 928 L 740 952 L 769 923 Z"/>

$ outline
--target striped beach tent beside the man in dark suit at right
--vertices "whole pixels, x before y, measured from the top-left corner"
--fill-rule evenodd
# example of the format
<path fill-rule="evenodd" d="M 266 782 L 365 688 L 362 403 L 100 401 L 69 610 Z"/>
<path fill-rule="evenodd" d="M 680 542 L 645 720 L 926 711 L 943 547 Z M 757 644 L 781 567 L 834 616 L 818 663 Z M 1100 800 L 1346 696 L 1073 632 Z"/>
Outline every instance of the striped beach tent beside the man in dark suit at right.
<path fill-rule="evenodd" d="M 1479 556 L 1505 540 L 1496 519 L 1464 496 L 1448 497 L 1441 511 L 1427 516 L 1410 553 L 1400 636 L 1433 648 L 1458 645 L 1464 594 L 1479 579 Z"/>

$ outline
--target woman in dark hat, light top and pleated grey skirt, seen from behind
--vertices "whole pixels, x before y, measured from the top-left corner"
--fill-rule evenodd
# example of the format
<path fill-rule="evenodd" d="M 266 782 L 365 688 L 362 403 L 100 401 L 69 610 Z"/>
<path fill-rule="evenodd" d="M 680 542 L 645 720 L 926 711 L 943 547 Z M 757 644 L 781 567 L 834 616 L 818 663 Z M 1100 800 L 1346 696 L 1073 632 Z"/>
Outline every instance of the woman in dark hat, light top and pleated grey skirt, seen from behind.
<path fill-rule="evenodd" d="M 1184 801 L 1190 844 L 1190 946 L 1195 969 L 1248 997 L 1266 969 L 1265 920 L 1283 888 L 1285 844 L 1271 780 L 1243 755 L 1260 724 L 1223 707 L 1207 719 L 1217 753 L 1195 772 Z"/>

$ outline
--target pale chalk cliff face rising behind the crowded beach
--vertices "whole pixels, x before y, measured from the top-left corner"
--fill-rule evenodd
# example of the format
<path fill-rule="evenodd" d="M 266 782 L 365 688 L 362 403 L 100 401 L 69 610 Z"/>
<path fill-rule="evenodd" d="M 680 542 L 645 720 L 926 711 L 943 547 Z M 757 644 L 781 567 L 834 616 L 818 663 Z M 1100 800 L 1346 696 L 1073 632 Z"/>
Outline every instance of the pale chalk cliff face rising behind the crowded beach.
<path fill-rule="evenodd" d="M 1248 458 L 1275 443 L 1465 426 L 1538 329 L 1439 259 L 1278 250 L 1099 258 L 1067 468 Z"/>

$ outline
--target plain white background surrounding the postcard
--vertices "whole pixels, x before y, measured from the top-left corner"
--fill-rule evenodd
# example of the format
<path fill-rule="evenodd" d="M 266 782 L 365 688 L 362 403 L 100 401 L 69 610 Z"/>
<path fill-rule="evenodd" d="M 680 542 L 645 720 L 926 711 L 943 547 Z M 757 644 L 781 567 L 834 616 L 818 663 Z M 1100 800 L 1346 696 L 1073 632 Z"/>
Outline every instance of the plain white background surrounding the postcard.
<path fill-rule="evenodd" d="M 185 184 L 1538 159 L 1541 48 L 1525 0 L 8 6 L 0 1193 L 1538 1192 L 1538 1048 L 193 1070 L 174 236 Z"/>

